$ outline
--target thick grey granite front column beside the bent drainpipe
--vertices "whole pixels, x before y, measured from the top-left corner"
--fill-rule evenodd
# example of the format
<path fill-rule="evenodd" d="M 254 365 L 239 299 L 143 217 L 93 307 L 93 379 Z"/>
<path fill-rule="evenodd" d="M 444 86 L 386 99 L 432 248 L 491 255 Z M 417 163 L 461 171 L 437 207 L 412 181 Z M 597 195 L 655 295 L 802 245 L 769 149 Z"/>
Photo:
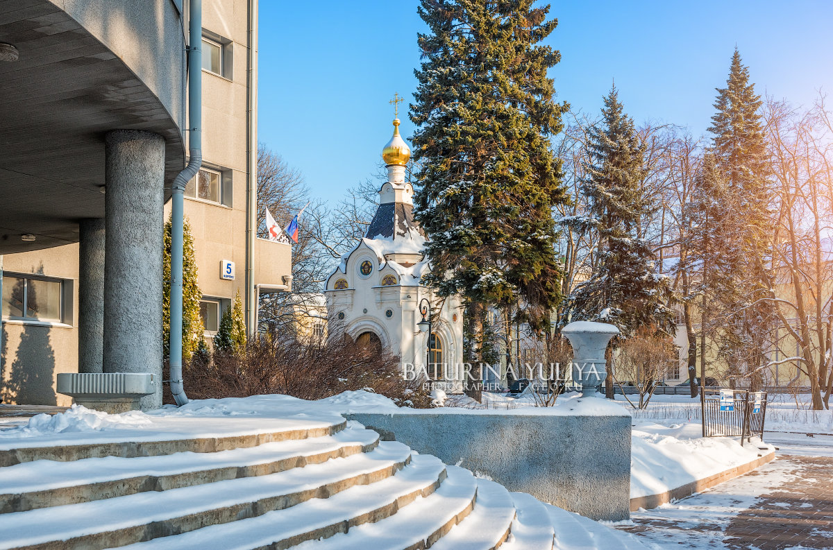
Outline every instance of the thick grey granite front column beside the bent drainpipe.
<path fill-rule="evenodd" d="M 133 130 L 106 141 L 105 373 L 151 373 L 162 406 L 162 228 L 165 140 Z"/>

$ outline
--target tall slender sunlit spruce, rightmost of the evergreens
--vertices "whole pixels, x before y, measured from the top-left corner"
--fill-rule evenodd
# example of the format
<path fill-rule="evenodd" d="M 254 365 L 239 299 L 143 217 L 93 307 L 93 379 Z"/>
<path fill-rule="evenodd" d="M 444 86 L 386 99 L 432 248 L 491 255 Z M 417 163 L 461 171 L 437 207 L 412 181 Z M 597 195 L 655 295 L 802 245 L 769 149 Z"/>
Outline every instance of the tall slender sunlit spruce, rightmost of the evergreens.
<path fill-rule="evenodd" d="M 773 322 L 772 307 L 766 300 L 771 287 L 768 260 L 770 255 L 772 192 L 766 169 L 766 141 L 763 122 L 758 113 L 761 97 L 750 82 L 749 69 L 741 62 L 735 48 L 725 88 L 717 88 L 709 131 L 714 135 L 711 153 L 728 190 L 734 197 L 736 211 L 744 221 L 737 226 L 738 242 L 729 273 L 737 289 L 733 301 L 724 302 L 728 330 L 718 342 L 728 364 L 731 378 L 751 372 L 752 384 L 759 385 L 759 368 L 765 362 L 767 333 Z M 728 297 L 728 296 L 727 296 Z"/>

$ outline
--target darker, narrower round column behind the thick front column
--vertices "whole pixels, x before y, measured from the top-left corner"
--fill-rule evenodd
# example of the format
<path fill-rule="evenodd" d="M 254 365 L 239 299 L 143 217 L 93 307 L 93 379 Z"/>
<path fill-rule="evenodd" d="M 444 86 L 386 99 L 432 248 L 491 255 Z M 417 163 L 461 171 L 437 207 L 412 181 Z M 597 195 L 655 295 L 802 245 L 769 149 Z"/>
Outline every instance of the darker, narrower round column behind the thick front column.
<path fill-rule="evenodd" d="M 101 373 L 104 360 L 104 219 L 81 220 L 78 253 L 78 372 Z"/>

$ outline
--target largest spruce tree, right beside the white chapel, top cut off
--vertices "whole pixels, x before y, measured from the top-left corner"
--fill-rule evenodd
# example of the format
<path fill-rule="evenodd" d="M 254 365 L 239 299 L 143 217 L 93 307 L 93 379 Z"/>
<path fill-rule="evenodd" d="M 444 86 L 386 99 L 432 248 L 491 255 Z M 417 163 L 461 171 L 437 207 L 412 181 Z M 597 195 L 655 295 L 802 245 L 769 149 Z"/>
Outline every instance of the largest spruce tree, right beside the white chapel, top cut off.
<path fill-rule="evenodd" d="M 540 42 L 555 30 L 533 0 L 421 0 L 430 29 L 411 106 L 416 219 L 431 240 L 426 284 L 461 295 L 482 360 L 486 307 L 526 304 L 524 320 L 549 323 L 560 299 L 551 209 L 566 201 L 549 138 L 566 104 L 547 69 L 560 54 Z"/>

